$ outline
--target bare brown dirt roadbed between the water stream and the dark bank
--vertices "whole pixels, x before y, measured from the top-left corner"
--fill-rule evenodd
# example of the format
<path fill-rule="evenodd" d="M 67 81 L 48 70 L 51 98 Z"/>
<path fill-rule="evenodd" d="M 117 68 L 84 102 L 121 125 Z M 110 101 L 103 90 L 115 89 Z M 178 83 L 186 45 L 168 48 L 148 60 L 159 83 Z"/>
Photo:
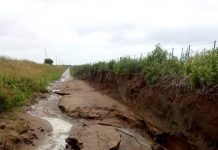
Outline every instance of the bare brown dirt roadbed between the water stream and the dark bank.
<path fill-rule="evenodd" d="M 67 147 L 82 150 L 163 149 L 146 133 L 144 122 L 119 101 L 99 93 L 88 83 L 73 79 L 59 108 L 77 121 Z M 153 127 L 155 128 L 155 127 Z"/>

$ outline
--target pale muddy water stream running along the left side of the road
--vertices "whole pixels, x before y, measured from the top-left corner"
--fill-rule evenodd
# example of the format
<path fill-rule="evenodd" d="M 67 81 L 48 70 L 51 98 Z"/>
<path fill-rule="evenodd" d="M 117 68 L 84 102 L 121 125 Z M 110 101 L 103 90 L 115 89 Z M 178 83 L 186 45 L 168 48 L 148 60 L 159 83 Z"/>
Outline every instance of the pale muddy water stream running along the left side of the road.
<path fill-rule="evenodd" d="M 51 124 L 51 129 L 48 131 L 51 134 L 42 145 L 38 146 L 37 150 L 60 150 L 64 149 L 66 145 L 65 139 L 73 126 L 73 121 L 59 110 L 58 101 L 61 96 L 55 94 L 55 92 L 59 91 L 60 87 L 70 79 L 70 71 L 67 69 L 59 81 L 48 87 L 51 91 L 49 97 L 41 99 L 39 103 L 32 106 L 31 111 L 28 111 L 30 115 L 44 119 Z"/>

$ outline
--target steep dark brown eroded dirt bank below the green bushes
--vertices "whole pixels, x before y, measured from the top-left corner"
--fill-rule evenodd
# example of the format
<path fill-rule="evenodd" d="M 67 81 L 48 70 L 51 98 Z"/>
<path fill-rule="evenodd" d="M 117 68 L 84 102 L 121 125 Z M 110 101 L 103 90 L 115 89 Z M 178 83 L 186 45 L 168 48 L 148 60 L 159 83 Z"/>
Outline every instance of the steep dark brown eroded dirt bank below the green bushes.
<path fill-rule="evenodd" d="M 143 74 L 113 72 L 93 73 L 90 81 L 103 93 L 121 97 L 146 123 L 157 126 L 162 134 L 151 136 L 169 149 L 218 149 L 218 87 L 192 90 L 185 79 L 172 78 L 151 88 Z"/>

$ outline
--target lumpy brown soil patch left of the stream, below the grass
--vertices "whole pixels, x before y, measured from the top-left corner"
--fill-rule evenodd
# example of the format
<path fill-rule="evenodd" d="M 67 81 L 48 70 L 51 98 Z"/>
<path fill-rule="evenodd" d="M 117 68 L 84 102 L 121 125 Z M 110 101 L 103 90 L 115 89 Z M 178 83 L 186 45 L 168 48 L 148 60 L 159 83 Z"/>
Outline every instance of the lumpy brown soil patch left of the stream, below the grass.
<path fill-rule="evenodd" d="M 0 149 L 36 148 L 50 130 L 49 123 L 22 112 L 0 115 Z"/>

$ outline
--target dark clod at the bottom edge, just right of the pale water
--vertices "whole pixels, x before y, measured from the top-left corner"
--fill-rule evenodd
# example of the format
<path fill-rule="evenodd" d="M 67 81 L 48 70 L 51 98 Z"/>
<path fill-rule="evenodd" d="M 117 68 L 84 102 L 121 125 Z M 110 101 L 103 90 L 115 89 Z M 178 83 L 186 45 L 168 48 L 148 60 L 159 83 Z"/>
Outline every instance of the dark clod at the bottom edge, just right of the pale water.
<path fill-rule="evenodd" d="M 66 139 L 66 142 L 67 142 L 67 145 L 65 147 L 66 150 L 81 150 L 83 147 L 83 144 L 73 137 L 68 137 Z"/>

